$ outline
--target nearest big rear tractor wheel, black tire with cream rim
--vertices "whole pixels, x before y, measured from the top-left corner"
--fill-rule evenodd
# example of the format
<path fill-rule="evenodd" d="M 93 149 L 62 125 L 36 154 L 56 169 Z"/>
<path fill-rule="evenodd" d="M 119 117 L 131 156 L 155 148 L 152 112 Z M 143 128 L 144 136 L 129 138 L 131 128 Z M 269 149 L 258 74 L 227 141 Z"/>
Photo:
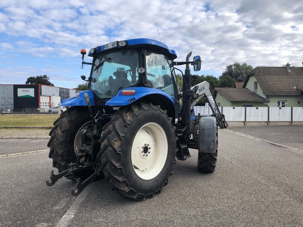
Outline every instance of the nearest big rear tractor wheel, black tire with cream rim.
<path fill-rule="evenodd" d="M 176 137 L 171 118 L 160 106 L 140 103 L 119 110 L 111 119 L 100 139 L 105 178 L 122 196 L 153 197 L 173 174 Z"/>

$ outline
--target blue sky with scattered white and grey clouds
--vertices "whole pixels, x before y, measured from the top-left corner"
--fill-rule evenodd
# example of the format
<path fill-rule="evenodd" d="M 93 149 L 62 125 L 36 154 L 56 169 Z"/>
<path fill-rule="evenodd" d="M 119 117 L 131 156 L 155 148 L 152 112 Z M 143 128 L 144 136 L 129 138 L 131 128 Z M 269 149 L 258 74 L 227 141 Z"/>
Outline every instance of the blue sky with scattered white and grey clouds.
<path fill-rule="evenodd" d="M 302 1 L 0 1 L 0 84 L 47 74 L 75 88 L 89 76 L 80 50 L 131 38 L 160 40 L 202 59 L 199 75 L 219 77 L 228 64 L 302 66 Z M 85 61 L 92 58 L 85 55 Z M 179 67 L 184 70 L 184 67 Z M 193 72 L 193 70 L 192 70 Z"/>

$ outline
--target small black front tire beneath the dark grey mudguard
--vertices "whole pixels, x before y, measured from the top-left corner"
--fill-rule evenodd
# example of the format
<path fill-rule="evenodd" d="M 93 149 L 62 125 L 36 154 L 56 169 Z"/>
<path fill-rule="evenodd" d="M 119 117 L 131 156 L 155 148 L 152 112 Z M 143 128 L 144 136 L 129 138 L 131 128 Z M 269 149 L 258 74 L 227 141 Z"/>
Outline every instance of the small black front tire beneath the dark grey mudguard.
<path fill-rule="evenodd" d="M 217 145 L 215 153 L 198 152 L 198 171 L 203 173 L 213 173 L 216 168 L 218 157 L 218 128 L 216 133 Z"/>

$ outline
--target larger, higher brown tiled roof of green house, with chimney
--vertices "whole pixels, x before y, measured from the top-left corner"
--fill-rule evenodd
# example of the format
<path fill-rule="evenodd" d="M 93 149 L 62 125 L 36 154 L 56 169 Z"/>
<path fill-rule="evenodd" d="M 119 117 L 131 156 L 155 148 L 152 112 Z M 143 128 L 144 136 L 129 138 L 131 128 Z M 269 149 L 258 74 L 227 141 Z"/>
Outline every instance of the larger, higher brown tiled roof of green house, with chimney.
<path fill-rule="evenodd" d="M 255 67 L 247 74 L 244 87 L 253 75 L 265 95 L 300 95 L 300 90 L 303 90 L 303 67 L 290 67 L 290 70 L 286 67 Z"/>

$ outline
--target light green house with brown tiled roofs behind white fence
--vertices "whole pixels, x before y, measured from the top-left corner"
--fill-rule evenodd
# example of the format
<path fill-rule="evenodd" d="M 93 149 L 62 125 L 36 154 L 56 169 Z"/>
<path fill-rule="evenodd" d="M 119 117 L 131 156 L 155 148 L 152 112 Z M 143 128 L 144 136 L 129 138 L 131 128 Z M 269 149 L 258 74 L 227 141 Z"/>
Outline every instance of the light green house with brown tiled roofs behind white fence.
<path fill-rule="evenodd" d="M 239 85 L 238 85 L 239 86 Z M 215 88 L 215 99 L 226 107 L 303 107 L 303 67 L 255 67 L 243 87 Z"/>

